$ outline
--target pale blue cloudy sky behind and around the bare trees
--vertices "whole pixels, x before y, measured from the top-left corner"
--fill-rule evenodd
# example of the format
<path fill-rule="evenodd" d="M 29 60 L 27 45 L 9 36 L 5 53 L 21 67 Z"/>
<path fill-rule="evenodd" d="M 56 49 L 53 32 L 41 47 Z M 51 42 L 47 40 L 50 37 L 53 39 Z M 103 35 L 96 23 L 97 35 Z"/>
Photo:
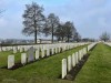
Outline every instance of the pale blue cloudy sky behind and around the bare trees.
<path fill-rule="evenodd" d="M 82 38 L 111 33 L 111 0 L 0 0 L 0 39 L 30 39 L 21 34 L 26 4 L 37 2 L 44 14 L 56 13 L 61 21 L 73 21 Z M 40 37 L 41 38 L 41 37 Z"/>

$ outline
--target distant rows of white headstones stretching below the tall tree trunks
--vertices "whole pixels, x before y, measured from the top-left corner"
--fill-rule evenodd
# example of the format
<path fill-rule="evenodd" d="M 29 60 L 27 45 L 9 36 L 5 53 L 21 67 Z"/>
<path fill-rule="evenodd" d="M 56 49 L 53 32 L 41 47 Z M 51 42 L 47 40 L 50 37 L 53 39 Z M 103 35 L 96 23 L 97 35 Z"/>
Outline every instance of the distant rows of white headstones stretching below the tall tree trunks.
<path fill-rule="evenodd" d="M 34 49 L 51 49 L 51 48 L 62 48 L 63 51 L 72 49 L 73 46 L 83 45 L 88 43 L 57 43 L 57 44 L 38 44 L 38 45 L 14 45 L 14 46 L 0 46 L 1 51 L 13 51 L 17 52 L 26 52 L 28 49 L 33 46 Z"/>

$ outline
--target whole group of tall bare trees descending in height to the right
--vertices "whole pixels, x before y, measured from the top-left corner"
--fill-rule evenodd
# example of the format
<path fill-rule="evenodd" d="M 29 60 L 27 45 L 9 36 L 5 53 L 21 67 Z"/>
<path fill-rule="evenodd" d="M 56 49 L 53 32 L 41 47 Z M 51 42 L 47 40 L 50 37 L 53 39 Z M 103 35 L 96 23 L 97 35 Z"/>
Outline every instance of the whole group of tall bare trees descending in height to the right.
<path fill-rule="evenodd" d="M 70 41 L 73 39 L 80 41 L 81 35 L 77 31 L 73 22 L 67 21 L 61 22 L 60 18 L 54 13 L 49 13 L 48 17 L 43 14 L 43 7 L 38 3 L 32 2 L 31 4 L 26 4 L 26 10 L 23 13 L 23 30 L 24 35 L 34 35 L 34 43 L 37 43 L 37 35 L 44 34 L 46 37 L 51 35 L 52 43 L 53 38 L 58 41 Z"/>

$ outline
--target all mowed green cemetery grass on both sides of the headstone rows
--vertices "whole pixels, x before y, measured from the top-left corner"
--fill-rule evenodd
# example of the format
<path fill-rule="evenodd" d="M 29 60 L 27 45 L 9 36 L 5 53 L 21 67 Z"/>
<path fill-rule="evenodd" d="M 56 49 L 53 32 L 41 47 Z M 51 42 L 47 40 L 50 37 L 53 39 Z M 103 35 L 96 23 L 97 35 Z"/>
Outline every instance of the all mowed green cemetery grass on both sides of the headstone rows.
<path fill-rule="evenodd" d="M 74 81 L 58 79 L 61 74 L 61 60 L 84 46 L 42 59 L 17 70 L 0 69 L 0 83 L 111 83 L 111 48 L 103 43 L 99 43 L 90 51 L 88 61 Z M 7 65 L 7 56 L 10 53 L 0 53 L 0 66 Z M 17 62 L 20 61 L 19 53 L 16 55 Z"/>

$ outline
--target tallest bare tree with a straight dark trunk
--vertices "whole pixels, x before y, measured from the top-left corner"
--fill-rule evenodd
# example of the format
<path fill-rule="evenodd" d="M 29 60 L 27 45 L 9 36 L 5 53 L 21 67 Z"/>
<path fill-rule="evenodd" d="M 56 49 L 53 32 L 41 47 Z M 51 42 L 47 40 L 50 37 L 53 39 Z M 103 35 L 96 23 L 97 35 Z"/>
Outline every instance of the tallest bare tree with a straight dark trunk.
<path fill-rule="evenodd" d="M 26 35 L 34 34 L 34 43 L 37 43 L 37 34 L 40 34 L 44 23 L 44 15 L 42 14 L 43 8 L 32 2 L 32 4 L 26 4 L 23 13 L 23 25 L 22 33 Z"/>

